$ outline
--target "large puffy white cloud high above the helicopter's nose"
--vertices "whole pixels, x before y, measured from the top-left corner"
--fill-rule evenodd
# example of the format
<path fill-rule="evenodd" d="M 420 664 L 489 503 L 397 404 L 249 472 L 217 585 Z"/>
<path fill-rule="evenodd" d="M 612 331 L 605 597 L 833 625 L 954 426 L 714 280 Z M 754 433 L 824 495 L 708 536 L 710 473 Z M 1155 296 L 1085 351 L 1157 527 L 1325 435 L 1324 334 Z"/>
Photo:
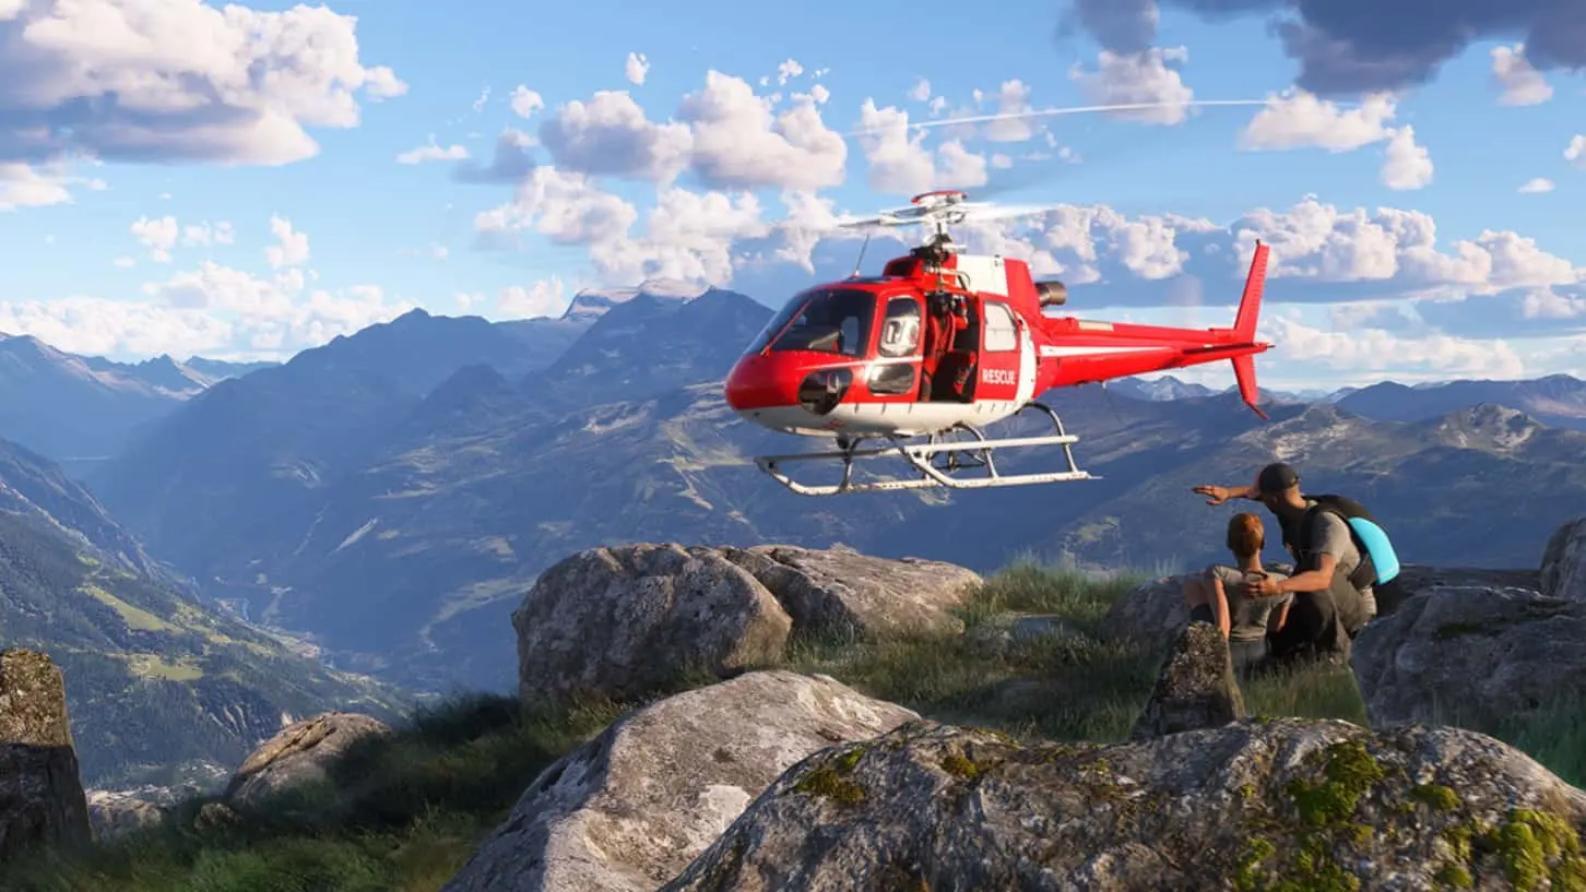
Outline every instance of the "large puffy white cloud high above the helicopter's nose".
<path fill-rule="evenodd" d="M 693 132 L 690 166 L 711 189 L 814 190 L 847 176 L 847 141 L 826 127 L 814 98 L 772 114 L 747 81 L 711 70 L 677 117 Z"/>

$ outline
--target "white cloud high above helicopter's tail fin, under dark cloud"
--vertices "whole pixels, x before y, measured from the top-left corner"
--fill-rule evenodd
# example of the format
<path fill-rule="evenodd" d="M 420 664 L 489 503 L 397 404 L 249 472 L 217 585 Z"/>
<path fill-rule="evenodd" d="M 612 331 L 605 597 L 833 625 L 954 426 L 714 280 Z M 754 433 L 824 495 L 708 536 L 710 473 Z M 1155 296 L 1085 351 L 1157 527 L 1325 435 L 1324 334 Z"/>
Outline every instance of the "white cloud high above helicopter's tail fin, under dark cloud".
<path fill-rule="evenodd" d="M 1297 87 L 1267 93 L 1267 101 L 1270 105 L 1239 132 L 1240 149 L 1261 152 L 1313 147 L 1353 152 L 1373 143 L 1388 143 L 1380 174 L 1383 185 L 1405 190 L 1432 182 L 1432 158 L 1424 146 L 1416 144 L 1415 128 L 1408 124 L 1388 127 L 1397 116 L 1397 103 L 1389 93 L 1370 93 L 1350 109 Z"/>

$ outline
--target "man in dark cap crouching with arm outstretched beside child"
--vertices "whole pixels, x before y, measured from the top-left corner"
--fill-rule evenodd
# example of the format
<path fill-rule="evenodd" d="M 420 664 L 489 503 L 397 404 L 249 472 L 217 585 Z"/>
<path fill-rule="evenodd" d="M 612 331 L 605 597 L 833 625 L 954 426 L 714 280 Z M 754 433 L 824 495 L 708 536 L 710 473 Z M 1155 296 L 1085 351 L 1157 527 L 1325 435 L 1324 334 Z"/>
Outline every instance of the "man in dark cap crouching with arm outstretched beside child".
<path fill-rule="evenodd" d="M 1210 496 L 1209 505 L 1232 497 L 1266 505 L 1283 528 L 1283 543 L 1294 556 L 1294 575 L 1267 578 L 1248 586 L 1253 597 L 1293 594 L 1283 629 L 1274 635 L 1274 651 L 1348 651 L 1348 642 L 1377 615 L 1377 594 L 1369 580 L 1353 580 L 1361 550 L 1347 520 L 1299 488 L 1299 474 L 1283 463 L 1261 469 L 1250 486 L 1196 486 Z"/>

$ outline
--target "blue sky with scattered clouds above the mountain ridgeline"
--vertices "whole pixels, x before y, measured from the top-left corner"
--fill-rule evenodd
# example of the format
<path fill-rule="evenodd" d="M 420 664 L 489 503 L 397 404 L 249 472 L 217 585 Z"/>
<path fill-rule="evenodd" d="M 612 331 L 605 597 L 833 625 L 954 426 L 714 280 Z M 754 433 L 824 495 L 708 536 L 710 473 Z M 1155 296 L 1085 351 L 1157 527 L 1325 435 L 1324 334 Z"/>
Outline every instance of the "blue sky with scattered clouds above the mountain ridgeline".
<path fill-rule="evenodd" d="M 779 306 L 853 269 L 841 219 L 963 189 L 1044 208 L 955 238 L 1091 318 L 1229 325 L 1269 242 L 1266 387 L 1586 371 L 1578 0 L 966 10 L 0 0 L 0 333 L 244 360 L 650 279 Z"/>

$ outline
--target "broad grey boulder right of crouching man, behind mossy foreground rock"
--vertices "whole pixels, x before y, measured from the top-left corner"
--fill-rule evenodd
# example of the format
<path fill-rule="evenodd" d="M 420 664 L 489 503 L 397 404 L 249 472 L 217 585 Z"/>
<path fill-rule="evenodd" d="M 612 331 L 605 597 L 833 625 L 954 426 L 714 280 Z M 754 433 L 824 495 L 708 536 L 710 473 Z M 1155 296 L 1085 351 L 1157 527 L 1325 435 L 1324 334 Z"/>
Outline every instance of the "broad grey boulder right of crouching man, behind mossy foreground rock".
<path fill-rule="evenodd" d="M 1586 602 L 1524 588 L 1432 586 L 1361 629 L 1350 665 L 1373 726 L 1492 729 L 1586 694 Z"/>

